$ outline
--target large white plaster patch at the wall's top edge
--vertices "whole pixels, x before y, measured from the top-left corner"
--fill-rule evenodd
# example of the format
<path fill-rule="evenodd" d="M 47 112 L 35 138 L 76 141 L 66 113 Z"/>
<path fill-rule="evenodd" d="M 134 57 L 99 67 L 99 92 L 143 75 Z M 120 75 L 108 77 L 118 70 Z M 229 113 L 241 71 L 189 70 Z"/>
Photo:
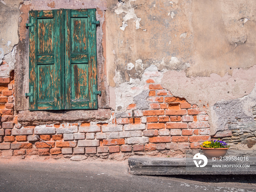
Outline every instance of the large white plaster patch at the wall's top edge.
<path fill-rule="evenodd" d="M 116 14 L 121 14 L 121 13 L 126 13 L 125 16 L 123 17 L 123 25 L 119 27 L 121 30 L 124 31 L 125 27 L 128 26 L 127 20 L 129 19 L 134 19 L 136 29 L 140 28 L 140 20 L 141 18 L 138 18 L 138 16 L 134 12 L 134 8 L 131 6 L 131 1 L 136 1 L 136 0 L 127 0 L 124 3 L 119 3 L 118 7 L 115 9 Z"/>

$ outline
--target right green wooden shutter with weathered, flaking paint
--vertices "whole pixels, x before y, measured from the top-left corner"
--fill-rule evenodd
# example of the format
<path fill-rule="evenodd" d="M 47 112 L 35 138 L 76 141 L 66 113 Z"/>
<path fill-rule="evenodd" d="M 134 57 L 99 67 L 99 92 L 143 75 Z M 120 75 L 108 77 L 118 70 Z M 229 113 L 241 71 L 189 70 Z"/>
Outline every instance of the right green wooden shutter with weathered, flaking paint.
<path fill-rule="evenodd" d="M 97 109 L 97 99 L 93 100 L 97 50 L 92 16 L 95 18 L 95 9 L 65 10 L 65 109 Z"/>

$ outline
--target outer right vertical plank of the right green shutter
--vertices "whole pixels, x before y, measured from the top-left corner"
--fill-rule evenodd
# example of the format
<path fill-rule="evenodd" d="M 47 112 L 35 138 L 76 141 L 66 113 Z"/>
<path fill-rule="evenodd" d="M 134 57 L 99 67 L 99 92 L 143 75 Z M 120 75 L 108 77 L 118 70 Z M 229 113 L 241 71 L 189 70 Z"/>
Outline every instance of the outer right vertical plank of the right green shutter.
<path fill-rule="evenodd" d="M 89 71 L 88 71 L 88 79 L 89 79 L 89 108 L 90 109 L 98 109 L 98 103 L 96 99 L 93 100 L 93 84 L 97 87 L 97 40 L 96 40 L 96 30 L 91 29 L 91 16 L 94 15 L 96 18 L 95 9 L 88 10 L 88 56 L 89 56 Z"/>

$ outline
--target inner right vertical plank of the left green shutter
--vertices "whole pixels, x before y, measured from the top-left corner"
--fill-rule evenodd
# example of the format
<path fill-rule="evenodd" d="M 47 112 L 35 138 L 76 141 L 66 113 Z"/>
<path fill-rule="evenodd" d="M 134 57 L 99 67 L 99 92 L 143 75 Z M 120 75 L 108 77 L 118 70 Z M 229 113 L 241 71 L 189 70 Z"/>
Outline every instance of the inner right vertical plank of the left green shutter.
<path fill-rule="evenodd" d="M 65 109 L 64 10 L 54 10 L 54 110 Z"/>

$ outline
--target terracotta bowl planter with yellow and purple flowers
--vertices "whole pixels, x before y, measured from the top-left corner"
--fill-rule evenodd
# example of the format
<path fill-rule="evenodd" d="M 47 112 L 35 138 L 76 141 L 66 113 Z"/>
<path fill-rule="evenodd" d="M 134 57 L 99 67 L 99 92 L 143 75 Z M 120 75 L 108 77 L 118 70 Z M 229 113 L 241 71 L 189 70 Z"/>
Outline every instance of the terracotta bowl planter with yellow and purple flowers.
<path fill-rule="evenodd" d="M 200 145 L 201 150 L 208 159 L 224 157 L 229 149 L 229 145 L 222 140 L 206 141 Z"/>

